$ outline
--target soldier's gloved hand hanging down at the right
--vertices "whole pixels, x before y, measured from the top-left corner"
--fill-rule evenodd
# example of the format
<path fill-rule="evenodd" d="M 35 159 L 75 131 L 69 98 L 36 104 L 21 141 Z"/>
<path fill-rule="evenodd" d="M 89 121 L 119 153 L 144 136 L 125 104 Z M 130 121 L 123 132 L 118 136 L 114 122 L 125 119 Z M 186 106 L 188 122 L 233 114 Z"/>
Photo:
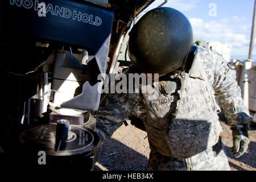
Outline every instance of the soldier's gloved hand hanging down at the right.
<path fill-rule="evenodd" d="M 231 154 L 236 158 L 239 158 L 245 153 L 250 143 L 248 135 L 248 126 L 245 125 L 233 125 L 231 128 L 233 136 L 233 147 Z"/>

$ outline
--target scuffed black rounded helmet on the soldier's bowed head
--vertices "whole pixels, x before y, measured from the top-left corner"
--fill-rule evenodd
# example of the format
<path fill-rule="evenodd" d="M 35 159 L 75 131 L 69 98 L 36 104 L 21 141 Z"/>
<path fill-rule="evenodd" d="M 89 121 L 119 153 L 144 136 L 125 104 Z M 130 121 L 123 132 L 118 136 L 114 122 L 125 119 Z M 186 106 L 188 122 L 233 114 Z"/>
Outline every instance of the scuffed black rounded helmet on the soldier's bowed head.
<path fill-rule="evenodd" d="M 144 73 L 168 73 L 187 60 L 193 44 L 189 20 L 170 7 L 148 11 L 130 31 L 128 55 Z"/>

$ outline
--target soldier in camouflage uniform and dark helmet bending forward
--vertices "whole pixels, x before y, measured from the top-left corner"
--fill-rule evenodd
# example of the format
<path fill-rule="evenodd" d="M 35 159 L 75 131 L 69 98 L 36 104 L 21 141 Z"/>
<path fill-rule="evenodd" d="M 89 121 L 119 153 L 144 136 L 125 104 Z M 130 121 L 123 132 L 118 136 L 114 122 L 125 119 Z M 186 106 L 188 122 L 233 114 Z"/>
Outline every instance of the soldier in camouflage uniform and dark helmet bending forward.
<path fill-rule="evenodd" d="M 149 170 L 230 170 L 216 98 L 233 131 L 232 154 L 239 157 L 249 144 L 250 117 L 236 71 L 217 53 L 193 46 L 191 24 L 175 9 L 149 11 L 129 35 L 128 53 L 136 69 L 127 73 L 159 73 L 159 87 L 151 86 L 159 96 L 107 94 L 92 116 L 101 140 L 129 116 L 138 117 L 150 144 Z"/>

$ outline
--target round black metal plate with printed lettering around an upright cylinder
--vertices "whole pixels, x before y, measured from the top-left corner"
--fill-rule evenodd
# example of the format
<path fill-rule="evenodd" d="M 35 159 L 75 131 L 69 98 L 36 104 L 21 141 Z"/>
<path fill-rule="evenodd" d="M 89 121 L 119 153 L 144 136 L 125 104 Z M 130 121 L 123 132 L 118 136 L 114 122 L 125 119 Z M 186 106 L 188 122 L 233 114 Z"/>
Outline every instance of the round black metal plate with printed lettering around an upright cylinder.
<path fill-rule="evenodd" d="M 55 137 L 56 123 L 39 125 L 23 131 L 20 142 L 29 150 L 45 151 L 47 155 L 71 156 L 92 151 L 99 143 L 98 135 L 79 126 L 69 125 L 68 138 Z"/>

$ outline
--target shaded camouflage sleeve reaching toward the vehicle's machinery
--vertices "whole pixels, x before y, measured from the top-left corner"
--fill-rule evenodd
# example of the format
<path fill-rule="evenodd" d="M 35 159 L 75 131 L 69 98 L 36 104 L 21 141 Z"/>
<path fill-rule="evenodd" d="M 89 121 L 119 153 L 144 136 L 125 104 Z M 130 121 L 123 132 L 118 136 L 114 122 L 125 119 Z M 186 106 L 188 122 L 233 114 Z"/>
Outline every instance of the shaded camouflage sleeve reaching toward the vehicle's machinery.
<path fill-rule="evenodd" d="M 96 133 L 101 143 L 109 139 L 115 130 L 128 117 L 129 108 L 127 94 L 106 94 L 99 110 L 91 117 L 96 118 Z"/>

